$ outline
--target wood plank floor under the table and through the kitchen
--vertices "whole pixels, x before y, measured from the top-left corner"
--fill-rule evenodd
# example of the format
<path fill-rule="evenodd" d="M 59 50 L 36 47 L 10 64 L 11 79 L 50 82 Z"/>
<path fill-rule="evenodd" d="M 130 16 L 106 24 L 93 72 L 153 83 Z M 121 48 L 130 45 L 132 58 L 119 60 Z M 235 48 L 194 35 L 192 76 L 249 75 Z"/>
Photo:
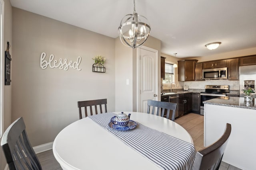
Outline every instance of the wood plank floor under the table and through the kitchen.
<path fill-rule="evenodd" d="M 190 133 L 196 150 L 204 148 L 204 116 L 189 113 L 180 118 L 175 119 L 175 122 L 184 127 Z M 60 164 L 54 158 L 52 150 L 48 150 L 37 154 L 43 170 L 62 170 Z M 221 163 L 219 170 L 240 170 L 225 162 Z"/>

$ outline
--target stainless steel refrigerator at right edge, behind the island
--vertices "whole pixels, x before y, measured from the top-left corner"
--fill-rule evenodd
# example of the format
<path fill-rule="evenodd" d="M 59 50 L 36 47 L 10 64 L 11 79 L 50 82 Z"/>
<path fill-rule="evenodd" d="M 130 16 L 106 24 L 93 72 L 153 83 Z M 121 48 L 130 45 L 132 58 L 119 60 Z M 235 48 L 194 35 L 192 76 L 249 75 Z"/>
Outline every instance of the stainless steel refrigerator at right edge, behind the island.
<path fill-rule="evenodd" d="M 244 81 L 252 80 L 251 82 L 256 81 L 256 65 L 251 66 L 240 66 L 239 67 L 239 86 L 240 86 L 240 97 L 244 97 L 242 89 L 244 88 Z M 251 84 L 251 87 L 255 89 L 255 85 Z M 252 93 L 253 98 L 256 98 L 256 93 Z"/>

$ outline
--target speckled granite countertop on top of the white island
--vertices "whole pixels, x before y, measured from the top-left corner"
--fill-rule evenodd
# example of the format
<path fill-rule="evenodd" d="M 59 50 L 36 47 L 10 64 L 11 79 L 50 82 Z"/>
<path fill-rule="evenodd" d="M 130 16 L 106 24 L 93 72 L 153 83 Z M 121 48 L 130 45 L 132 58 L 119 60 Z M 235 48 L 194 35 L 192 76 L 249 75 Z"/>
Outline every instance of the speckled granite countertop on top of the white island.
<path fill-rule="evenodd" d="M 246 109 L 256 109 L 256 98 L 252 102 L 244 102 L 244 98 L 222 96 L 211 100 L 206 100 L 204 104 L 213 104 L 219 106 L 239 107 Z"/>

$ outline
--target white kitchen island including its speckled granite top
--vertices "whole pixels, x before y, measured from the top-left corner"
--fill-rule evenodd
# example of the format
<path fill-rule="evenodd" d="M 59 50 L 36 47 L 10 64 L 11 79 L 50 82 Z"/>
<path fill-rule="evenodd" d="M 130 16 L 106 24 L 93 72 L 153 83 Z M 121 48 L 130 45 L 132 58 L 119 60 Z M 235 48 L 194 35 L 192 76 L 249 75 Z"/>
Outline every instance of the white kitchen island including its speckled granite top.
<path fill-rule="evenodd" d="M 226 123 L 232 130 L 222 161 L 242 170 L 256 169 L 256 105 L 245 106 L 244 98 L 220 97 L 204 103 L 204 146 L 223 134 Z"/>

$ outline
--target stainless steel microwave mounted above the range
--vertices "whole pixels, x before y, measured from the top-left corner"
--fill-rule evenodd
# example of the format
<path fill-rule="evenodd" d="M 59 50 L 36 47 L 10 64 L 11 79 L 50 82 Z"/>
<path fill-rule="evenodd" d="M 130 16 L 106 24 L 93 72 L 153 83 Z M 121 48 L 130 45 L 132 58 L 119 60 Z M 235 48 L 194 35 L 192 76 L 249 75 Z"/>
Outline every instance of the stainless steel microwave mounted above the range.
<path fill-rule="evenodd" d="M 203 69 L 204 80 L 227 79 L 227 78 L 228 78 L 227 67 Z"/>

